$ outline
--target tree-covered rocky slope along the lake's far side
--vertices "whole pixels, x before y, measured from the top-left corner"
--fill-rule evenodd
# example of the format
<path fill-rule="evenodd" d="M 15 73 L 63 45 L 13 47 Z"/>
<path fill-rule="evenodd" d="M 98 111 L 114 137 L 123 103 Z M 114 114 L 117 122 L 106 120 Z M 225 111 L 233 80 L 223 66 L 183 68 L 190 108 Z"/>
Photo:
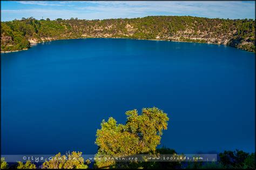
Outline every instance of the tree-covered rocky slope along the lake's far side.
<path fill-rule="evenodd" d="M 191 16 L 149 16 L 132 19 L 37 20 L 1 22 L 1 51 L 17 51 L 39 43 L 70 38 L 134 38 L 225 44 L 255 52 L 254 19 L 210 19 Z"/>

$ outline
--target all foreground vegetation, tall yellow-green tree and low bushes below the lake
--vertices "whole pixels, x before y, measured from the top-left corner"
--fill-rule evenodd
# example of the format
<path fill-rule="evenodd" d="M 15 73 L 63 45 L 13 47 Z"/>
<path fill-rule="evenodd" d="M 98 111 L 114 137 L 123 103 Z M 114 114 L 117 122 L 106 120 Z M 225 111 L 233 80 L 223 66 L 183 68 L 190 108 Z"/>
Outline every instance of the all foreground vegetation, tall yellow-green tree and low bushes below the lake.
<path fill-rule="evenodd" d="M 89 159 L 82 157 L 82 152 L 67 152 L 64 155 L 60 153 L 52 156 L 52 159 L 45 160 L 41 164 L 34 164 L 31 161 L 25 163 L 18 161 L 9 165 L 4 158 L 1 158 L 1 169 L 87 169 L 87 168 L 136 168 L 136 169 L 219 169 L 219 168 L 244 168 L 255 169 L 255 153 L 246 153 L 239 151 L 224 151 L 218 154 L 217 161 L 203 162 L 190 160 L 187 162 L 177 161 L 116 161 L 116 159 L 131 157 L 133 155 L 150 155 L 150 157 L 159 157 L 159 155 L 173 155 L 173 157 L 182 157 L 174 149 L 157 148 L 160 144 L 163 131 L 167 129 L 169 118 L 167 114 L 156 107 L 143 108 L 142 113 L 137 110 L 127 111 L 127 120 L 125 124 L 117 124 L 114 118 L 108 121 L 103 120 L 101 129 L 96 132 L 96 142 L 98 152 L 95 155 L 95 162 L 92 164 Z M 176 139 L 174 139 L 176 140 Z M 102 159 L 99 159 L 102 158 Z M 90 166 L 91 165 L 91 166 Z"/>

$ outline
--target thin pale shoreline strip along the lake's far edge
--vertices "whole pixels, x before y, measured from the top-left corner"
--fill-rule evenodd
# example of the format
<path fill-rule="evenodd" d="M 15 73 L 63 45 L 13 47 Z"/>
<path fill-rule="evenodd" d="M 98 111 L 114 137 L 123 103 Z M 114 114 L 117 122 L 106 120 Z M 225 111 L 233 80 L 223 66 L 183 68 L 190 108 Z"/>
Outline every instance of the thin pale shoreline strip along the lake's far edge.
<path fill-rule="evenodd" d="M 234 46 L 230 46 L 230 45 L 226 45 L 226 44 L 214 44 L 214 43 L 201 43 L 201 42 L 186 42 L 186 41 L 181 41 L 181 40 L 166 40 L 166 39 L 143 39 L 143 38 L 130 38 L 130 37 L 81 37 L 81 38 L 63 38 L 63 39 L 49 39 L 49 40 L 42 40 L 42 42 L 35 42 L 33 41 L 32 43 L 30 43 L 30 47 L 32 46 L 36 46 L 36 44 L 40 44 L 40 43 L 46 43 L 46 42 L 52 42 L 55 40 L 69 40 L 69 39 L 88 39 L 88 38 L 112 38 L 112 39 L 136 39 L 136 40 L 154 40 L 154 41 L 165 41 L 165 42 L 179 42 L 179 43 L 198 43 L 198 44 L 213 44 L 213 45 L 225 45 L 225 46 L 229 46 L 229 47 L 233 47 L 235 49 L 239 49 L 237 47 Z M 29 47 L 29 48 L 30 48 Z M 29 50 L 29 48 L 27 49 L 22 49 L 22 50 L 15 50 L 15 51 L 1 51 L 1 53 L 10 53 L 10 52 L 18 52 L 18 51 L 23 51 L 23 50 Z M 239 49 L 242 51 L 246 51 L 243 49 Z M 246 51 L 246 52 L 253 52 L 253 51 Z M 255 52 L 253 52 L 255 53 Z"/>

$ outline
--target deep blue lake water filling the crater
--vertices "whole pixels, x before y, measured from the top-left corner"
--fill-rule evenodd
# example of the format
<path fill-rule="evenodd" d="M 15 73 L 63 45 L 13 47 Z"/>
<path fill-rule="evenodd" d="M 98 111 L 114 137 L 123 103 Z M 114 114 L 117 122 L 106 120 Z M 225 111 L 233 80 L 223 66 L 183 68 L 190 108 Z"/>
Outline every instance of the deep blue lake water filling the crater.
<path fill-rule="evenodd" d="M 1 55 L 2 154 L 94 154 L 103 119 L 156 106 L 160 146 L 255 151 L 255 57 L 224 45 L 70 39 Z"/>

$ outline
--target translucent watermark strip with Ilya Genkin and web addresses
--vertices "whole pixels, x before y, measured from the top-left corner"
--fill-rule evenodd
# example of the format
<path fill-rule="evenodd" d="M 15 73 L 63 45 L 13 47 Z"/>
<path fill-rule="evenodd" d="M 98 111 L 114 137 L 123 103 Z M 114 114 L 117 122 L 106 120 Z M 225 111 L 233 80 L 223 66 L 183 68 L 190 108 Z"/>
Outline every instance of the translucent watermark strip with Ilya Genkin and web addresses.
<path fill-rule="evenodd" d="M 63 161 L 63 160 L 77 160 L 78 158 L 68 157 L 55 157 L 56 154 L 51 155 L 1 155 L 5 158 L 6 162 L 45 162 L 45 161 Z M 90 162 L 95 161 L 116 161 L 116 162 L 129 162 L 129 161 L 140 161 L 140 162 L 191 162 L 191 161 L 201 161 L 201 162 L 213 162 L 217 161 L 217 154 L 136 154 L 136 155 L 100 155 L 95 156 L 92 154 L 81 155 L 84 160 L 89 160 Z"/>

